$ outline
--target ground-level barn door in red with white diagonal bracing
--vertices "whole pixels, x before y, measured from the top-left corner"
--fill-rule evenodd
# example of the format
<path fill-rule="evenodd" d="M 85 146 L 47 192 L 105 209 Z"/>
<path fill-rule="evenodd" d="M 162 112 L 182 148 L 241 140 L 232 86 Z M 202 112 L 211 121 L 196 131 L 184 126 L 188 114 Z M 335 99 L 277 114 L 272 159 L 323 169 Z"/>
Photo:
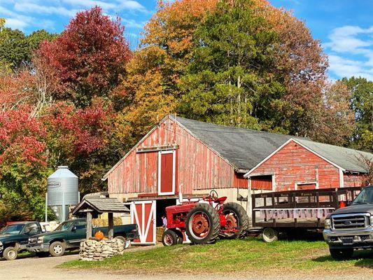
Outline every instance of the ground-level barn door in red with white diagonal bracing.
<path fill-rule="evenodd" d="M 134 244 L 155 244 L 155 200 L 132 202 L 131 223 L 136 223 L 139 239 Z"/>

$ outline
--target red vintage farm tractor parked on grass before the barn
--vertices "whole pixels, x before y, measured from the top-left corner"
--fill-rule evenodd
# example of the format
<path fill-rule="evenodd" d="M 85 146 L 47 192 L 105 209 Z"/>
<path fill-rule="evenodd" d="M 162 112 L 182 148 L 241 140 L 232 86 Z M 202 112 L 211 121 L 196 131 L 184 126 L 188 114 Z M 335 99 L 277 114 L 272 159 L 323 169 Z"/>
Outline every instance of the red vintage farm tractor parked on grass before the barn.
<path fill-rule="evenodd" d="M 220 238 L 238 238 L 246 233 L 248 216 L 244 207 L 218 197 L 216 190 L 198 202 L 183 202 L 166 207 L 167 230 L 164 246 L 183 243 L 186 234 L 192 244 L 209 244 Z"/>

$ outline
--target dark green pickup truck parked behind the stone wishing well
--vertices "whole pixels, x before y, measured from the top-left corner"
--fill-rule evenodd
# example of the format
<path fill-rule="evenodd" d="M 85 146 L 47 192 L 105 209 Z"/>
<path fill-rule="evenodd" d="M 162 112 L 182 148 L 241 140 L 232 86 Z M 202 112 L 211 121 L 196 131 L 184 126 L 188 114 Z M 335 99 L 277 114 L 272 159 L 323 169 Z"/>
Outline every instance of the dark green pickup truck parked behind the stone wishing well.
<path fill-rule="evenodd" d="M 98 231 L 107 235 L 108 228 L 93 228 L 93 235 Z M 54 231 L 34 235 L 29 238 L 27 251 L 36 253 L 38 256 L 52 255 L 58 257 L 64 255 L 66 250 L 79 248 L 80 241 L 87 235 L 86 220 L 79 218 L 60 224 Z M 115 225 L 114 237 L 125 241 L 126 246 L 133 239 L 139 238 L 136 224 Z"/>

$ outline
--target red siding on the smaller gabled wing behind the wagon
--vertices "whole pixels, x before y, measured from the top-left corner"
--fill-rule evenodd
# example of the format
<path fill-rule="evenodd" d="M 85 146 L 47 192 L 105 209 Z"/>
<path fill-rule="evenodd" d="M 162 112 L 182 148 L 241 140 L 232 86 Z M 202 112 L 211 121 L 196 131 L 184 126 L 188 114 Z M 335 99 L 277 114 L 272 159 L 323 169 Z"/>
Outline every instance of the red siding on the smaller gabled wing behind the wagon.
<path fill-rule="evenodd" d="M 311 153 L 306 148 L 290 141 L 253 175 L 274 174 L 275 190 L 294 190 L 295 183 L 318 181 L 318 188 L 339 188 L 339 169 Z"/>

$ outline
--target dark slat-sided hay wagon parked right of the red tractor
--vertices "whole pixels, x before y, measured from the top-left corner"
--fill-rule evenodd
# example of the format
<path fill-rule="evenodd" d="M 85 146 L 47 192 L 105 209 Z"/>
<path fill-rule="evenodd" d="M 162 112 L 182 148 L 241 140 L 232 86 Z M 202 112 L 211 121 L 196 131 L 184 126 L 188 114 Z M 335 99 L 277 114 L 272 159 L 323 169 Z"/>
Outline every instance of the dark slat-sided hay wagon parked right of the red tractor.
<path fill-rule="evenodd" d="M 280 233 L 297 230 L 322 231 L 325 217 L 353 201 L 361 188 L 322 188 L 286 190 L 251 195 L 252 228 L 267 242 L 276 241 Z"/>

